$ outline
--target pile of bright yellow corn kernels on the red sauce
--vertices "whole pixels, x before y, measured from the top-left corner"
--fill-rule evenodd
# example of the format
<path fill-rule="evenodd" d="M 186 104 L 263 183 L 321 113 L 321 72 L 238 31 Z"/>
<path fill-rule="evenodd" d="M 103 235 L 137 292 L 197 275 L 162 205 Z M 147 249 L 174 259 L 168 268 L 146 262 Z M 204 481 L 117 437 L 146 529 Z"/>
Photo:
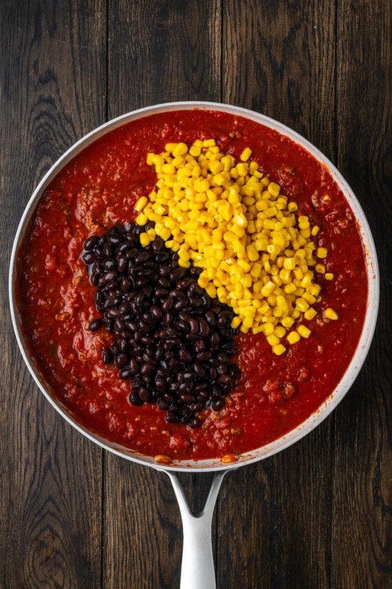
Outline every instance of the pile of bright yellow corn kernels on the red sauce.
<path fill-rule="evenodd" d="M 296 216 L 296 203 L 261 174 L 249 148 L 238 163 L 212 138 L 165 149 L 148 154 L 157 183 L 135 205 L 139 225 L 155 223 L 140 236 L 142 245 L 159 235 L 179 265 L 202 267 L 199 285 L 234 309 L 232 327 L 263 331 L 274 353 L 285 352 L 283 337 L 289 344 L 308 338 L 301 321 L 316 316 L 312 305 L 320 300 L 313 269 L 334 278 L 321 261 L 327 250 L 312 241 L 319 228 Z M 337 318 L 332 309 L 325 316 Z"/>

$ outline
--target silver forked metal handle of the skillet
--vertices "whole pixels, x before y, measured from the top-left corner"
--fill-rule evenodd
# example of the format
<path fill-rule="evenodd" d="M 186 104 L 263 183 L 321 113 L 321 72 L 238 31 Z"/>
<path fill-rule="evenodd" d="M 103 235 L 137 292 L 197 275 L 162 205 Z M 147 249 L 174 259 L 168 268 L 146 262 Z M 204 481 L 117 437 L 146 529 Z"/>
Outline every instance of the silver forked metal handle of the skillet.
<path fill-rule="evenodd" d="M 215 474 L 206 505 L 195 515 L 190 512 L 177 475 L 171 471 L 165 472 L 171 479 L 182 517 L 184 546 L 180 589 L 215 589 L 211 524 L 219 488 L 227 471 Z"/>

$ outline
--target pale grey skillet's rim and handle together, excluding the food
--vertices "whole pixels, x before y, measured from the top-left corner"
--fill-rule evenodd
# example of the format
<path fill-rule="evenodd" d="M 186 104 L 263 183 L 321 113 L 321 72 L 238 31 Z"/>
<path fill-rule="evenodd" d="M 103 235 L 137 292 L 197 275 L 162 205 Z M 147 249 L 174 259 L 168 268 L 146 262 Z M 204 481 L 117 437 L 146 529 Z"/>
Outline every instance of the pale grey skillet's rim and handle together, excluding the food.
<path fill-rule="evenodd" d="M 36 205 L 39 203 L 39 200 L 43 195 L 43 192 L 45 192 L 46 187 L 50 184 L 50 182 L 58 174 L 58 172 L 72 158 L 74 158 L 74 156 L 76 156 L 79 152 L 85 149 L 87 145 L 90 145 L 107 132 L 113 130 L 114 128 L 120 125 L 124 125 L 126 123 L 129 123 L 130 121 L 134 121 L 135 119 L 138 119 L 140 117 L 148 116 L 149 114 L 155 114 L 158 112 L 192 110 L 196 108 L 227 112 L 230 114 L 237 114 L 245 118 L 249 118 L 251 121 L 256 121 L 258 123 L 261 123 L 262 125 L 273 128 L 279 133 L 292 139 L 292 141 L 294 141 L 295 143 L 301 145 L 301 147 L 305 148 L 310 154 L 312 154 L 316 158 L 316 160 L 318 160 L 320 163 L 325 165 L 325 167 L 327 167 L 329 173 L 334 178 L 334 180 L 336 180 L 336 183 L 342 190 L 346 200 L 351 206 L 353 214 L 356 216 L 356 220 L 358 221 L 358 227 L 360 227 L 362 244 L 367 258 L 367 311 L 364 318 L 364 324 L 362 334 L 360 336 L 360 341 L 358 342 L 356 351 L 353 354 L 353 358 L 351 359 L 351 362 L 347 367 L 345 374 L 343 375 L 342 379 L 340 380 L 334 391 L 332 391 L 329 397 L 327 397 L 327 400 L 325 400 L 322 406 L 320 406 L 320 408 L 315 413 L 310 415 L 310 417 L 307 420 L 305 420 L 305 422 L 300 424 L 298 427 L 294 428 L 294 430 L 290 431 L 286 435 L 283 435 L 278 440 L 275 440 L 270 444 L 262 446 L 261 448 L 257 448 L 252 452 L 246 453 L 246 455 L 241 455 L 239 457 L 238 462 L 235 463 L 224 464 L 219 459 L 208 459 L 199 461 L 179 461 L 169 465 L 162 465 L 155 462 L 155 459 L 153 459 L 152 457 L 131 451 L 129 450 L 129 448 L 125 448 L 120 444 L 115 444 L 109 440 L 106 440 L 104 437 L 101 437 L 97 433 L 89 431 L 88 428 L 86 428 L 83 425 L 80 425 L 71 415 L 67 407 L 65 407 L 62 404 L 62 402 L 51 393 L 50 386 L 48 386 L 45 382 L 43 375 L 41 375 L 38 366 L 36 366 L 36 363 L 34 362 L 34 358 L 32 358 L 32 355 L 28 351 L 28 346 L 26 345 L 25 337 L 23 335 L 21 316 L 16 302 L 16 285 L 18 279 L 17 260 L 19 248 L 21 247 L 21 243 L 23 242 L 23 238 L 25 236 L 25 231 L 28 227 L 28 223 L 30 221 L 30 218 L 32 217 L 32 214 L 34 213 Z M 19 224 L 19 228 L 17 230 L 17 234 L 14 239 L 9 277 L 12 323 L 15 335 L 17 337 L 17 342 L 19 344 L 19 349 L 21 350 L 23 359 L 25 360 L 25 363 L 27 364 L 28 369 L 32 374 L 32 377 L 34 378 L 34 381 L 39 386 L 47 400 L 54 406 L 56 411 L 58 411 L 58 413 L 60 413 L 64 417 L 64 419 L 67 420 L 67 422 L 69 422 L 78 431 L 80 431 L 80 433 L 88 437 L 89 440 L 91 440 L 92 442 L 100 445 L 107 451 L 110 451 L 118 456 L 124 457 L 125 459 L 129 459 L 133 462 L 138 462 L 138 464 L 143 464 L 144 466 L 149 466 L 151 468 L 155 468 L 159 471 L 162 471 L 166 473 L 168 477 L 170 477 L 179 504 L 179 509 L 182 515 L 182 524 L 184 531 L 181 580 L 182 589 L 215 588 L 215 571 L 213 563 L 213 551 L 210 528 L 213 517 L 213 511 L 215 508 L 215 502 L 224 476 L 229 471 L 232 471 L 236 468 L 252 464 L 253 462 L 257 462 L 261 459 L 270 457 L 275 453 L 283 451 L 288 446 L 300 440 L 302 437 L 307 435 L 307 433 L 309 433 L 316 426 L 318 426 L 318 424 L 325 420 L 327 415 L 329 415 L 331 411 L 334 411 L 338 403 L 342 400 L 347 391 L 349 391 L 351 385 L 353 384 L 354 380 L 356 379 L 356 376 L 358 375 L 362 367 L 362 364 L 364 363 L 364 360 L 369 351 L 369 347 L 371 345 L 371 340 L 373 338 L 375 322 L 378 313 L 378 303 L 380 296 L 379 288 L 380 287 L 378 277 L 378 261 L 369 225 L 364 216 L 362 208 L 358 203 L 356 196 L 353 194 L 349 185 L 347 185 L 345 179 L 342 178 L 336 167 L 334 167 L 334 165 L 332 165 L 332 163 L 329 162 L 327 158 L 325 158 L 325 156 L 321 154 L 318 151 L 318 149 L 316 149 L 316 147 L 314 147 L 311 143 L 305 140 L 305 138 L 301 137 L 296 132 L 290 130 L 288 127 L 285 127 L 285 125 L 282 125 L 281 123 L 278 123 L 277 121 L 274 121 L 271 118 L 268 118 L 267 116 L 249 110 L 245 110 L 239 107 L 234 107 L 231 105 L 222 105 L 220 103 L 196 101 L 166 103 L 162 105 L 155 105 L 151 107 L 142 108 L 140 110 L 135 110 L 128 114 L 124 114 L 123 116 L 115 118 L 112 121 L 105 123 L 105 125 L 98 127 L 96 130 L 90 132 L 85 137 L 81 138 L 80 141 L 78 141 L 70 149 L 68 149 L 67 152 L 65 152 L 65 154 L 63 154 L 63 156 L 61 156 L 61 158 L 58 159 L 58 161 L 52 166 L 49 172 L 47 172 L 47 174 L 41 180 L 39 185 L 36 187 L 34 193 L 32 194 L 32 197 L 30 198 L 27 207 L 25 208 L 25 211 L 21 218 L 21 222 Z M 188 507 L 186 498 L 182 490 L 182 486 L 179 483 L 179 479 L 177 477 L 177 472 L 181 471 L 195 471 L 197 473 L 213 471 L 215 473 L 215 478 L 213 479 L 213 484 L 211 486 L 210 493 L 206 500 L 206 505 L 201 513 L 192 514 L 190 512 L 190 509 Z"/>

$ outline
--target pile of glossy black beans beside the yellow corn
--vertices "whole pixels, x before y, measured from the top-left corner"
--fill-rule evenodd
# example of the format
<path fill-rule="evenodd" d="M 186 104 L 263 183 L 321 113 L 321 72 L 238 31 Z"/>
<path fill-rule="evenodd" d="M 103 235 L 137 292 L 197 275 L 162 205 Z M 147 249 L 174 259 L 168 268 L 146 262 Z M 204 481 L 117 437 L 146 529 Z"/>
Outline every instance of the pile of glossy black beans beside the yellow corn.
<path fill-rule="evenodd" d="M 197 284 L 199 268 L 179 267 L 160 237 L 140 245 L 151 227 L 115 225 L 85 241 L 82 258 L 100 313 L 89 329 L 116 334 L 102 360 L 130 380 L 129 402 L 156 403 L 168 423 L 197 427 L 197 413 L 219 411 L 239 375 L 231 358 L 239 330 L 230 326 L 234 311 Z"/>

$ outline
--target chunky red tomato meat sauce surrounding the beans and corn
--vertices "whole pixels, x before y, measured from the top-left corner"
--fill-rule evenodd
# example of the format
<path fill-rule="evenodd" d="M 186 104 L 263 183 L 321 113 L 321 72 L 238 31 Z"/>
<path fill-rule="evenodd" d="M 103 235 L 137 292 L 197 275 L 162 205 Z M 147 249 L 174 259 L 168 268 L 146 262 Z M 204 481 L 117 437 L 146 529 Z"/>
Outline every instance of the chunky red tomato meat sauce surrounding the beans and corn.
<path fill-rule="evenodd" d="M 320 227 L 317 247 L 328 249 L 317 276 L 322 302 L 339 319 L 309 322 L 309 339 L 272 353 L 265 335 L 239 335 L 242 371 L 221 411 L 204 410 L 203 426 L 165 422 L 155 405 L 131 406 L 129 382 L 101 361 L 111 335 L 88 330 L 96 318 L 94 287 L 80 258 L 83 242 L 113 223 L 135 219 L 135 201 L 155 184 L 147 152 L 168 141 L 215 138 L 239 158 L 244 147 L 298 214 Z M 325 201 L 321 197 L 329 195 Z M 276 440 L 311 415 L 342 378 L 356 349 L 367 304 L 367 273 L 356 220 L 327 169 L 289 138 L 239 116 L 182 111 L 155 114 L 109 132 L 54 178 L 36 207 L 19 255 L 19 307 L 36 364 L 54 395 L 91 431 L 145 455 L 208 459 L 241 454 Z M 294 385 L 294 388 L 293 388 Z M 294 394 L 292 394 L 294 391 Z"/>

